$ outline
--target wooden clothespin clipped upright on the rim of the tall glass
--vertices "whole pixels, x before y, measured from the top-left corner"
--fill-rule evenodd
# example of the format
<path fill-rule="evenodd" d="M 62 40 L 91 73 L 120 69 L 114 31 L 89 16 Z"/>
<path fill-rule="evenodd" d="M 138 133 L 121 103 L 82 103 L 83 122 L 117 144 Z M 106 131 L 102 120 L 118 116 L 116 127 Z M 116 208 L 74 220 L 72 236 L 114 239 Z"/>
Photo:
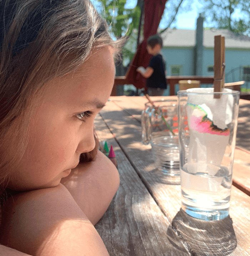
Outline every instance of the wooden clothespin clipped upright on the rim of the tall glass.
<path fill-rule="evenodd" d="M 221 92 L 225 84 L 225 37 L 214 37 L 214 92 Z M 214 98 L 219 99 L 220 94 Z"/>

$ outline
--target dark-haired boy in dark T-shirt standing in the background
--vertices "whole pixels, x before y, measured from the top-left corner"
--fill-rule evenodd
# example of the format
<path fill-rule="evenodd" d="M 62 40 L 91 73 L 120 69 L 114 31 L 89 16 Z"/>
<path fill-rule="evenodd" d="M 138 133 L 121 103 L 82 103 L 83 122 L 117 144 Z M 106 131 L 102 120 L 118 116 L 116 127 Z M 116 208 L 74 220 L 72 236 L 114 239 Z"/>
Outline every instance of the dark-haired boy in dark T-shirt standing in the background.
<path fill-rule="evenodd" d="M 167 88 L 165 60 L 160 51 L 162 48 L 162 39 L 159 35 L 151 35 L 147 39 L 147 52 L 152 54 L 149 66 L 138 67 L 137 72 L 144 76 L 146 81 L 147 94 L 149 96 L 162 96 Z"/>

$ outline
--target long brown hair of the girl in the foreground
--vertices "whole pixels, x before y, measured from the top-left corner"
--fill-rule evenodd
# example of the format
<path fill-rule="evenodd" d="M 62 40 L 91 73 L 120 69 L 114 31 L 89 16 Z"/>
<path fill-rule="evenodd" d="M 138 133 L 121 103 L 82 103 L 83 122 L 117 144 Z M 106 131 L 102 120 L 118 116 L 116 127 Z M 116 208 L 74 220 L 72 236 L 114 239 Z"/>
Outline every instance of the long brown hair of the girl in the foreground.
<path fill-rule="evenodd" d="M 111 39 L 89 0 L 0 0 L 2 191 L 26 150 L 30 118 L 44 85 L 75 71 L 94 47 L 105 46 L 118 52 L 120 43 Z M 81 161 L 94 160 L 96 152 L 97 143 Z"/>

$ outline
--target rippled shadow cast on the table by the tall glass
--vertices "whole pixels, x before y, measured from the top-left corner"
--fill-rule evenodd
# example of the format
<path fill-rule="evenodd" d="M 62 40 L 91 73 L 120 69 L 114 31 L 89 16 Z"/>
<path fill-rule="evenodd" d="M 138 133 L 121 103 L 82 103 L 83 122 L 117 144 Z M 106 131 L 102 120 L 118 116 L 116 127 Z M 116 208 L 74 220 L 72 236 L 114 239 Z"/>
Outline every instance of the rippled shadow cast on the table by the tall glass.
<path fill-rule="evenodd" d="M 229 216 L 220 221 L 202 221 L 180 209 L 167 229 L 169 241 L 179 247 L 176 234 L 191 256 L 228 255 L 237 246 L 233 221 Z"/>

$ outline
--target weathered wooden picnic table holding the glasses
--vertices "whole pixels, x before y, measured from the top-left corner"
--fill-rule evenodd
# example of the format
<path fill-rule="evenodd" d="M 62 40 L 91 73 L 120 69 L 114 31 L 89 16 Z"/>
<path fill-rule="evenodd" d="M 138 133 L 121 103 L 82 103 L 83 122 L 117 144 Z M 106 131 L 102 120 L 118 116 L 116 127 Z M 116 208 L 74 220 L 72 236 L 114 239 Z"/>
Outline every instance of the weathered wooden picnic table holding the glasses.
<path fill-rule="evenodd" d="M 169 97 L 176 96 L 152 99 Z M 212 222 L 186 215 L 180 185 L 169 184 L 155 170 L 151 146 L 141 143 L 146 102 L 140 96 L 110 97 L 95 120 L 99 140 L 114 148 L 120 174 L 120 187 L 95 226 L 110 256 L 249 256 L 250 101 L 240 100 L 230 213 Z"/>

